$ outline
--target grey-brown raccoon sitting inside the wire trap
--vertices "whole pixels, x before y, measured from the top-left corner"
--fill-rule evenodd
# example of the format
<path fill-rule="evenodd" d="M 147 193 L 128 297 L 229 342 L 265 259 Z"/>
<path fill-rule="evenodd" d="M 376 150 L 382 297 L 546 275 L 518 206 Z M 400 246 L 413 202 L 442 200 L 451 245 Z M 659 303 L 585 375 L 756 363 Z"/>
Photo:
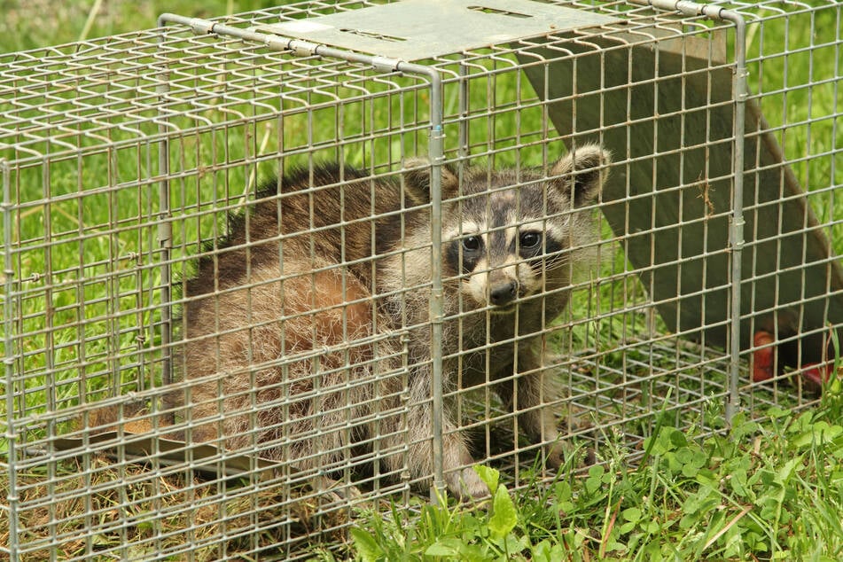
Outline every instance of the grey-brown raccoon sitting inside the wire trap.
<path fill-rule="evenodd" d="M 443 167 L 443 242 L 433 249 L 426 160 L 406 161 L 401 175 L 328 165 L 269 184 L 184 283 L 184 381 L 170 400 L 191 439 L 323 472 L 377 442 L 386 472 L 428 478 L 439 252 L 449 492 L 488 495 L 457 419 L 454 394 L 472 386 L 494 385 L 530 440 L 553 443 L 558 467 L 560 389 L 542 333 L 566 307 L 572 267 L 588 261 L 594 226 L 582 208 L 609 162 L 586 145 L 548 176 Z"/>

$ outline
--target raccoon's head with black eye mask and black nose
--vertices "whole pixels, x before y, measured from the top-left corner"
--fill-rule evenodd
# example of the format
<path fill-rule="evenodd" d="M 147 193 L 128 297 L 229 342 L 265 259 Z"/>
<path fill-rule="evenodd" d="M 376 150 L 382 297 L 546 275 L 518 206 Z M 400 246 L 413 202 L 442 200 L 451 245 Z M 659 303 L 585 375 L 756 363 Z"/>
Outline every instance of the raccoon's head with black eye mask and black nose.
<path fill-rule="evenodd" d="M 470 168 L 460 185 L 442 170 L 442 265 L 462 309 L 509 314 L 530 295 L 570 283 L 578 246 L 594 236 L 588 211 L 605 180 L 608 152 L 579 147 L 541 171 Z"/>

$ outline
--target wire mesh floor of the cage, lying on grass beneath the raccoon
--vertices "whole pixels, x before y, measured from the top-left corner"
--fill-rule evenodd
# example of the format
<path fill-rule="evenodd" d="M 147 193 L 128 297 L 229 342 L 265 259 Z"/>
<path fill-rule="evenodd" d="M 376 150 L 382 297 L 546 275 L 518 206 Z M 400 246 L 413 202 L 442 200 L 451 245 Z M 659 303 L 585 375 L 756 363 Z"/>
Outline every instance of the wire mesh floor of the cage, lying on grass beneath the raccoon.
<path fill-rule="evenodd" d="M 617 356 L 621 361 L 613 364 L 605 351 L 584 351 L 566 371 L 572 399 L 560 425 L 574 453 L 574 476 L 601 462 L 607 445 L 622 448 L 630 466 L 636 464 L 644 438 L 666 413 L 668 423 L 694 436 L 723 429 L 729 363 L 722 351 L 667 338 L 646 346 L 628 342 Z M 741 377 L 749 379 L 745 366 Z M 751 417 L 761 418 L 772 406 L 813 403 L 785 380 L 744 385 L 742 404 Z M 496 420 L 469 424 L 467 431 L 475 457 L 499 470 L 508 488 L 526 490 L 556 478 L 537 461 L 541 448 L 516 439 L 512 418 L 500 404 L 484 404 L 472 394 L 464 408 L 490 411 Z M 514 452 L 505 446 L 512 443 Z M 43 451 L 31 452 L 43 458 Z M 21 472 L 17 482 L 20 544 L 33 559 L 53 548 L 74 558 L 74 549 L 86 550 L 92 542 L 96 550 L 121 556 L 155 551 L 178 557 L 190 544 L 196 559 L 213 559 L 221 549 L 227 556 L 260 552 L 261 558 L 305 559 L 314 549 L 342 548 L 347 530 L 366 513 L 386 512 L 394 504 L 413 513 L 429 501 L 421 490 L 383 484 L 371 474 L 325 479 L 316 491 L 313 485 L 291 486 L 289 473 L 213 474 L 193 464 L 154 465 L 101 453 L 52 460 L 44 469 L 42 463 L 41 470 Z M 81 503 L 86 509 L 78 509 Z M 222 544 L 221 533 L 230 537 Z"/>

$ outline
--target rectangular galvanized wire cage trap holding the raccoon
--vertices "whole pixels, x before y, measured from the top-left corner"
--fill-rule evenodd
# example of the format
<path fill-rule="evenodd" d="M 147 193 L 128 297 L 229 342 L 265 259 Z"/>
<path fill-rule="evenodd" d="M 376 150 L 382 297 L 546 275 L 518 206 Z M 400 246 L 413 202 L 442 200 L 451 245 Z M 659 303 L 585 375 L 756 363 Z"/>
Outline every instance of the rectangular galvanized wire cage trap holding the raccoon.
<path fill-rule="evenodd" d="M 647 4 L 302 2 L 0 57 L 0 552 L 307 558 L 475 463 L 524 488 L 816 401 L 841 7 Z"/>

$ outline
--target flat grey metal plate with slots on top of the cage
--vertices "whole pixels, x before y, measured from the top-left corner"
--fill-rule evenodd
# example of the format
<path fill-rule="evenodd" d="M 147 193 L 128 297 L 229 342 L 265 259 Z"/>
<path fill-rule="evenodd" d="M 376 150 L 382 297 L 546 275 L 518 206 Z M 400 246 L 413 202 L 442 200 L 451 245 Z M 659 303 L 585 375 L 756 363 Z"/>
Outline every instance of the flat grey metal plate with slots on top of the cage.
<path fill-rule="evenodd" d="M 615 21 L 533 0 L 406 0 L 254 29 L 410 61 Z"/>

